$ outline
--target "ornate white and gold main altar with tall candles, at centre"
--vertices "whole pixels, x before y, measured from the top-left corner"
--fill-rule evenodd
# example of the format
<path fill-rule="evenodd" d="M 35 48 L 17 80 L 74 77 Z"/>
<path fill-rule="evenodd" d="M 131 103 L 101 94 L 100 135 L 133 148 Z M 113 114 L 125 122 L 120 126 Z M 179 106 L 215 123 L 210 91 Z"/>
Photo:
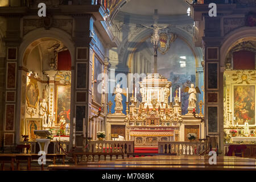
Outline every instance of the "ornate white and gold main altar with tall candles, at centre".
<path fill-rule="evenodd" d="M 125 140 L 134 140 L 134 145 L 137 147 L 158 146 L 160 141 L 188 141 L 189 134 L 194 135 L 195 140 L 205 138 L 204 122 L 199 119 L 199 114 L 193 113 L 196 109 L 195 103 L 192 103 L 193 109 L 189 105 L 188 113 L 181 115 L 181 91 L 179 89 L 178 93 L 176 90 L 172 102 L 171 85 L 167 78 L 158 73 L 150 73 L 143 78 L 139 82 L 141 103 L 138 103 L 136 88 L 135 94 L 132 93 L 130 97 L 130 102 L 126 93 L 127 114 L 108 114 L 106 138 L 111 140 L 113 131 L 117 133 L 122 130 L 123 133 L 120 135 L 124 135 Z M 191 85 L 193 89 L 193 84 Z M 196 91 L 193 94 L 196 94 Z M 193 98 L 196 99 L 195 96 Z M 203 118 L 203 115 L 200 117 Z M 113 130 L 116 126 L 119 130 Z"/>

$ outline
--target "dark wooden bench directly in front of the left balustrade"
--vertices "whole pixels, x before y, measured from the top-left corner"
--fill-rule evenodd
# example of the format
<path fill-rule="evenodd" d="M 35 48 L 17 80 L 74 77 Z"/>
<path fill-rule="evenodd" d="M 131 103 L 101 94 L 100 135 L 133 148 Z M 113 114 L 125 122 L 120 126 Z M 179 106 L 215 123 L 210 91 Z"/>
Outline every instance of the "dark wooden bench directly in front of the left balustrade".
<path fill-rule="evenodd" d="M 98 156 L 98 160 L 100 161 L 100 156 L 103 155 L 104 156 L 104 160 L 106 160 L 106 156 L 110 156 L 110 160 L 112 160 L 112 156 L 116 156 L 116 158 L 118 158 L 119 155 L 122 156 L 122 159 L 125 158 L 125 154 L 122 152 L 75 152 L 73 154 L 73 159 L 75 160 L 75 164 L 77 164 L 77 158 L 79 156 L 85 156 L 86 158 L 86 162 L 87 159 L 89 157 L 89 155 L 92 155 L 92 160 L 94 161 L 94 157 Z"/>

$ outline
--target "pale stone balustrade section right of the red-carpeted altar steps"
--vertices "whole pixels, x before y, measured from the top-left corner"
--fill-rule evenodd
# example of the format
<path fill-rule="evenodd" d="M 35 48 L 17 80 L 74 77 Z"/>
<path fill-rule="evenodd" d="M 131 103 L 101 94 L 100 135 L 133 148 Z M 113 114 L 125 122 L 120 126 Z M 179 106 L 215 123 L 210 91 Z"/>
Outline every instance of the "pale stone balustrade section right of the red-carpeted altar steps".
<path fill-rule="evenodd" d="M 158 142 L 158 154 L 200 155 L 206 142 Z"/>

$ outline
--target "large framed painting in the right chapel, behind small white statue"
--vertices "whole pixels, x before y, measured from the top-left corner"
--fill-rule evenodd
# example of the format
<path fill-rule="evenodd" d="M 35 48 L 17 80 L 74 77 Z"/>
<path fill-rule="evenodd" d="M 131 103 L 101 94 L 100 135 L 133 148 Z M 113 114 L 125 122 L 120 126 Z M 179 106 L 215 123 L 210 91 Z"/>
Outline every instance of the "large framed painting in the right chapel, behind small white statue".
<path fill-rule="evenodd" d="M 238 125 L 255 125 L 255 85 L 233 86 L 233 108 Z"/>

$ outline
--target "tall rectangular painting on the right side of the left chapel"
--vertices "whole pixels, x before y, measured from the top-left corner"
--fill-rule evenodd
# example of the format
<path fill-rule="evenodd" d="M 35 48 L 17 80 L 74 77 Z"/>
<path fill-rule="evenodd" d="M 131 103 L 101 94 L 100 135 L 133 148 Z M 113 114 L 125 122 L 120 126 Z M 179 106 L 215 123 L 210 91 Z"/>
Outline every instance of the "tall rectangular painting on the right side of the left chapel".
<path fill-rule="evenodd" d="M 71 85 L 56 85 L 55 92 L 55 121 L 59 124 L 60 119 L 64 118 L 66 123 L 70 123 Z"/>

